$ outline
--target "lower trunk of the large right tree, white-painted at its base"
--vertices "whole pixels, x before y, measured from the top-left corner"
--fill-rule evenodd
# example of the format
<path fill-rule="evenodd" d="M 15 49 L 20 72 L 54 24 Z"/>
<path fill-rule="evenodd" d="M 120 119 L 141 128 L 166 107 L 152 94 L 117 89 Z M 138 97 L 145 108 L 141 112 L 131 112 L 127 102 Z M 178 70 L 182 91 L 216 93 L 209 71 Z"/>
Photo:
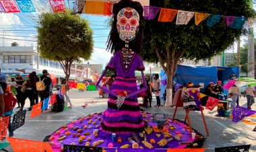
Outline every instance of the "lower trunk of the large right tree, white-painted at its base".
<path fill-rule="evenodd" d="M 167 75 L 168 73 L 166 73 Z M 167 85 L 166 85 L 166 102 L 165 107 L 172 106 L 172 72 L 167 75 Z"/>

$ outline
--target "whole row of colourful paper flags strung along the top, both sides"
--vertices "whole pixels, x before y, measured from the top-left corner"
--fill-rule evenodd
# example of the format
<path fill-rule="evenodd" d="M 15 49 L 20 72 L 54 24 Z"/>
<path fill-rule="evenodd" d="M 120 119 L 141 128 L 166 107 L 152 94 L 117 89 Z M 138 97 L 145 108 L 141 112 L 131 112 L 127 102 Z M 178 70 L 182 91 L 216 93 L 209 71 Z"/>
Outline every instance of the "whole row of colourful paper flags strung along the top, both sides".
<path fill-rule="evenodd" d="M 69 1 L 69 0 L 68 0 Z M 49 3 L 56 13 L 65 11 L 65 0 L 49 0 Z M 96 6 L 96 7 L 95 7 Z M 113 2 L 111 1 L 81 1 L 73 0 L 73 9 L 77 13 L 87 13 L 94 15 L 112 15 Z M 32 0 L 0 0 L 0 13 L 30 13 L 36 12 Z M 195 25 L 199 25 L 203 20 L 207 20 L 208 27 L 212 27 L 223 18 L 226 26 L 234 29 L 241 29 L 243 26 L 251 27 L 255 18 L 237 17 L 210 13 L 198 13 L 193 11 L 182 11 L 177 9 L 167 9 L 154 6 L 144 6 L 144 18 L 154 20 L 158 15 L 158 22 L 172 22 L 177 16 L 177 25 L 187 25 L 195 16 Z"/>

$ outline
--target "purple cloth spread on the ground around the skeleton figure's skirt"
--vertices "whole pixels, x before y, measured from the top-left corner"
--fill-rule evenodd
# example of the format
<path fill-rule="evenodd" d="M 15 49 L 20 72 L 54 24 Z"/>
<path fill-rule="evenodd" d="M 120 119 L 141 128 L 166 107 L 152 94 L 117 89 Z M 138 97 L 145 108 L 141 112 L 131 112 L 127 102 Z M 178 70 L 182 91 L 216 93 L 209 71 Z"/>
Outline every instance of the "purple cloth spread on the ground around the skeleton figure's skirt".
<path fill-rule="evenodd" d="M 151 120 L 151 114 L 148 114 L 148 116 L 149 116 L 148 118 L 143 118 L 143 120 L 147 120 L 147 119 Z M 98 116 L 98 114 L 94 114 L 94 116 L 90 119 L 94 121 L 96 119 L 98 120 L 99 117 L 102 118 L 102 115 Z M 80 119 L 81 118 L 79 118 L 79 120 Z M 53 148 L 53 151 L 60 151 L 61 147 L 63 147 L 63 144 L 70 145 L 71 143 L 75 143 L 76 145 L 84 146 L 84 145 L 86 145 L 86 142 L 88 141 L 87 140 L 88 137 L 91 137 L 91 139 L 92 139 L 92 141 L 90 141 L 90 144 L 92 144 L 94 141 L 104 140 L 104 143 L 98 145 L 97 147 L 108 147 L 108 143 L 113 143 L 113 146 L 117 147 L 117 148 L 119 148 L 125 144 L 131 145 L 131 143 L 129 143 L 129 141 L 127 140 L 129 137 L 132 137 L 131 134 L 121 134 L 121 135 L 117 134 L 116 139 L 118 137 L 122 137 L 122 143 L 117 143 L 117 141 L 112 141 L 111 134 L 107 133 L 107 132 L 103 132 L 102 130 L 99 130 L 98 137 L 96 138 L 96 137 L 94 137 L 94 135 L 92 135 L 92 132 L 96 128 L 97 125 L 99 126 L 101 120 L 98 120 L 97 124 L 88 124 L 87 123 L 88 120 L 83 120 L 82 123 L 80 123 L 79 120 L 76 120 L 75 124 L 73 124 L 73 123 L 67 124 L 67 126 L 69 128 L 68 130 L 71 131 L 71 135 L 66 135 L 66 138 L 63 140 L 63 143 L 60 144 L 60 141 L 57 141 L 57 139 L 59 138 L 59 135 L 56 135 L 55 132 L 52 134 L 52 136 L 55 136 L 55 139 L 53 139 L 53 142 L 55 144 L 51 145 L 51 147 Z M 84 125 L 87 125 L 88 127 L 92 126 L 92 128 L 84 129 L 84 127 L 82 127 Z M 157 126 L 156 123 L 152 123 L 152 122 L 149 122 L 148 125 Z M 183 137 L 181 137 L 181 141 L 195 141 L 195 139 L 197 139 L 197 138 L 191 139 L 189 130 L 186 128 L 187 124 L 184 124 L 183 122 L 174 123 L 174 122 L 172 122 L 172 120 L 169 120 L 169 125 L 173 125 L 177 128 L 174 130 L 169 129 L 169 131 L 170 131 L 170 133 L 172 133 L 173 137 L 175 135 L 177 135 L 175 132 L 179 131 L 183 135 Z M 73 133 L 77 134 L 77 131 L 71 130 L 70 126 L 78 126 L 79 128 L 83 128 L 81 135 L 84 135 L 84 132 L 86 132 L 86 131 L 90 131 L 91 135 L 86 136 L 86 139 L 83 141 L 83 143 L 78 143 L 79 137 L 73 138 L 73 136 L 72 136 Z M 166 126 L 166 128 L 168 128 L 168 126 Z M 61 135 L 65 135 L 65 128 L 59 128 L 59 131 L 61 132 Z M 135 132 L 135 134 L 139 137 L 139 132 Z M 185 148 L 186 147 L 186 145 L 179 145 L 180 141 L 177 141 L 176 139 L 174 139 L 173 141 L 170 141 L 165 147 L 160 147 L 157 143 L 158 143 L 158 141 L 160 141 L 162 139 L 163 135 L 161 133 L 159 133 L 159 134 L 161 134 L 161 137 L 158 138 L 158 137 L 156 137 L 156 134 L 157 133 L 153 131 L 150 135 L 146 135 L 147 141 L 150 141 L 150 139 L 155 139 L 156 143 L 152 144 L 154 146 L 154 149 L 168 149 L 168 148 L 173 149 L 173 148 Z M 143 139 L 141 139 L 139 137 L 139 140 L 142 141 Z M 145 147 L 141 142 L 139 143 L 139 146 L 144 148 L 144 149 L 141 149 L 141 151 L 145 151 L 145 149 L 148 150 L 148 148 Z"/>

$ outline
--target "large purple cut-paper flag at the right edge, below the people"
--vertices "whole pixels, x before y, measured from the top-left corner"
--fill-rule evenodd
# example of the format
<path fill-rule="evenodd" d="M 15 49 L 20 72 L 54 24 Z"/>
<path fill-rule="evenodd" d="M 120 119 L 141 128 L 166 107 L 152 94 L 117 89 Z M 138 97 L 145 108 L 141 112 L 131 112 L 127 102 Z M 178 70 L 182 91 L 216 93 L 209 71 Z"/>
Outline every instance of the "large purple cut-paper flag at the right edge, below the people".
<path fill-rule="evenodd" d="M 242 120 L 243 118 L 245 118 L 246 116 L 251 116 L 252 114 L 255 114 L 256 111 L 247 109 L 247 108 L 243 108 L 241 106 L 236 106 L 233 109 L 232 112 L 232 121 L 233 122 L 238 122 L 240 120 Z"/>

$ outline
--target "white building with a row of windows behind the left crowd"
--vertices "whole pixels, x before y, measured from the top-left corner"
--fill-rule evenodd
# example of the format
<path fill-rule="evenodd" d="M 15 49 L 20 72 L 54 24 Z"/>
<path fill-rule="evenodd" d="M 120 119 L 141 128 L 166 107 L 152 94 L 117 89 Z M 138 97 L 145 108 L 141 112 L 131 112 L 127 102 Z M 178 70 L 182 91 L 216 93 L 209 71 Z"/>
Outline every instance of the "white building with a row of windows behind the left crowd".
<path fill-rule="evenodd" d="M 0 46 L 0 67 L 1 72 L 7 75 L 24 74 L 36 71 L 42 73 L 43 69 L 47 69 L 49 73 L 53 73 L 57 77 L 65 77 L 63 68 L 58 62 L 41 59 L 36 47 L 33 46 Z M 73 69 L 73 71 L 75 71 Z M 72 69 L 71 69 L 72 73 Z M 77 71 L 82 77 L 82 71 Z M 75 79 L 75 75 L 71 74 L 71 79 Z"/>

